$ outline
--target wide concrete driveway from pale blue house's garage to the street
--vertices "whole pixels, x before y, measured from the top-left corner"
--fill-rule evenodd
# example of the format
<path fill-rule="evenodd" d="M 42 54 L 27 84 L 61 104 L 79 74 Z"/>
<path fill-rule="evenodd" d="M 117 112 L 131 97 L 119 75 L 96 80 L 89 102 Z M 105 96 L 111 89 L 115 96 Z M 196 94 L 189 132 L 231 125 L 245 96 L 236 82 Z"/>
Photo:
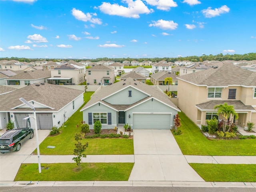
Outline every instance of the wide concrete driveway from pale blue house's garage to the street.
<path fill-rule="evenodd" d="M 170 130 L 133 130 L 130 181 L 204 181 L 190 167 Z"/>

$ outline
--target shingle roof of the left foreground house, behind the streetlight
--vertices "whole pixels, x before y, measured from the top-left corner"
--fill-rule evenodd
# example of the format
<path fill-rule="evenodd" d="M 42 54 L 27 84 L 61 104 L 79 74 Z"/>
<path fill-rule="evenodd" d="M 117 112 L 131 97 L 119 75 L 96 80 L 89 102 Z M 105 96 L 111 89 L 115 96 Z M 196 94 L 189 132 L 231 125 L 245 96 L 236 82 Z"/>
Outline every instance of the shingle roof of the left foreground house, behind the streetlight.
<path fill-rule="evenodd" d="M 22 102 L 19 100 L 19 98 L 21 97 L 27 101 L 34 100 L 35 102 L 39 102 L 46 106 L 54 108 L 54 110 L 52 111 L 58 111 L 84 92 L 81 90 L 66 88 L 63 86 L 47 83 L 44 85 L 39 85 L 40 86 L 36 86 L 36 84 L 31 84 L 24 88 L 14 90 L 13 92 L 0 95 L 0 111 L 15 111 L 15 109 L 10 109 L 22 104 Z M 19 108 L 16 110 L 21 109 Z M 36 108 L 36 110 L 46 109 Z"/>

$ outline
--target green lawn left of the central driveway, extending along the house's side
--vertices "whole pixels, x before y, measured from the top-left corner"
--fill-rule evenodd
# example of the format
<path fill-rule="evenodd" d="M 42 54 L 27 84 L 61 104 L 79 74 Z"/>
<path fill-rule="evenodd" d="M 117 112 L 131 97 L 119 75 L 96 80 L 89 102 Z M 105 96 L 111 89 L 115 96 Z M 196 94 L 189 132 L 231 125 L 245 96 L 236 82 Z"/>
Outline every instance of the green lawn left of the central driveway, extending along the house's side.
<path fill-rule="evenodd" d="M 94 92 L 86 92 L 84 94 L 84 104 L 90 100 L 90 96 Z M 82 106 L 84 106 L 84 104 Z M 80 133 L 80 125 L 82 121 L 82 106 L 64 123 L 61 134 L 57 136 L 48 136 L 40 144 L 40 154 L 42 155 L 72 155 L 75 147 L 75 133 Z M 134 154 L 133 140 L 131 139 L 83 139 L 83 142 L 88 142 L 89 146 L 86 149 L 86 154 Z M 47 146 L 55 146 L 55 148 L 46 148 Z M 36 154 L 36 150 L 34 151 Z"/>

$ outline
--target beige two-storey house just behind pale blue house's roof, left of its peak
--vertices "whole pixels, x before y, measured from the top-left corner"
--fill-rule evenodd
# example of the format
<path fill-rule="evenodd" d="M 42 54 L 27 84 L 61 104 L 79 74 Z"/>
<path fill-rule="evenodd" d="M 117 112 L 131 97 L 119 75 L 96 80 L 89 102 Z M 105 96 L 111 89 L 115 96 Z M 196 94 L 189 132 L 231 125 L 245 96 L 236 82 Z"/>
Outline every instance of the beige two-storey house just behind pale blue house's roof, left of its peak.
<path fill-rule="evenodd" d="M 98 64 L 86 70 L 87 85 L 109 85 L 115 82 L 115 68 Z"/>

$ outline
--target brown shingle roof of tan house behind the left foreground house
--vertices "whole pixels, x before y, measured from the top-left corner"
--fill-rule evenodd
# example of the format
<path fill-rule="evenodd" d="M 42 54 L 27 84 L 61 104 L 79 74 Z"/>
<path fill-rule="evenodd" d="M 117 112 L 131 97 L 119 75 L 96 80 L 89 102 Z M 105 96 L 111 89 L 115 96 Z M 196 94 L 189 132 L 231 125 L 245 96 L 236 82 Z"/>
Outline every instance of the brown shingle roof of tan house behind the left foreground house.
<path fill-rule="evenodd" d="M 8 78 L 8 80 L 35 80 L 41 78 L 48 78 L 51 76 L 51 72 L 48 70 L 34 70 L 34 71 L 23 71 L 22 73 L 16 74 Z"/>

